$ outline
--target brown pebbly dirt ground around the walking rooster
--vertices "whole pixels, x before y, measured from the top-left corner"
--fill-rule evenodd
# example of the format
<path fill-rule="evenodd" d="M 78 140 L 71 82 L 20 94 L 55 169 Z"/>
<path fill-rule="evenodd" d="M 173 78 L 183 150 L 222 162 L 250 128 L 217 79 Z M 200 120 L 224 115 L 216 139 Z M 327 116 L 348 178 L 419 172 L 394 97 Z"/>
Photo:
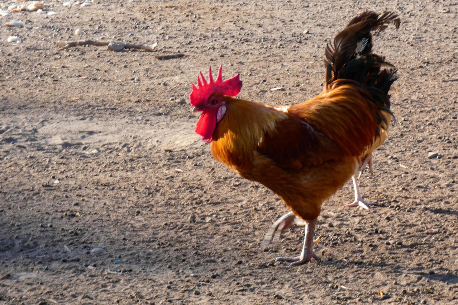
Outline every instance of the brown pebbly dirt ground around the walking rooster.
<path fill-rule="evenodd" d="M 456 1 L 64 2 L 0 17 L 0 304 L 458 302 Z M 273 263 L 299 253 L 302 229 L 260 246 L 287 208 L 213 160 L 191 82 L 223 63 L 240 97 L 304 101 L 327 40 L 365 10 L 402 20 L 375 39 L 401 75 L 361 178 L 377 205 L 344 208 L 347 183 L 318 218 L 322 261 Z M 158 49 L 55 45 L 89 38 Z"/>

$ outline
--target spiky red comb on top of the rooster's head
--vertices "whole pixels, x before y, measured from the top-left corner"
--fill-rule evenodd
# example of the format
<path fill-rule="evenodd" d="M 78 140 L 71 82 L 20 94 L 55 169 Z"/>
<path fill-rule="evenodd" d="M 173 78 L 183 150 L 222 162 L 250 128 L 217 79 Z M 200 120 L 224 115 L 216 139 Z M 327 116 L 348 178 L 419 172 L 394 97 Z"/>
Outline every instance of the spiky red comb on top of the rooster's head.
<path fill-rule="evenodd" d="M 239 79 L 239 75 L 235 75 L 229 80 L 223 80 L 221 71 L 223 70 L 223 64 L 219 66 L 218 76 L 216 80 L 213 80 L 212 76 L 212 66 L 208 69 L 208 82 L 202 75 L 202 72 L 199 71 L 200 78 L 197 76 L 197 85 L 198 87 L 192 84 L 192 91 L 189 95 L 189 100 L 193 107 L 198 106 L 200 102 L 207 102 L 209 96 L 213 93 L 220 93 L 227 96 L 236 96 L 240 92 L 242 87 L 242 82 Z"/>

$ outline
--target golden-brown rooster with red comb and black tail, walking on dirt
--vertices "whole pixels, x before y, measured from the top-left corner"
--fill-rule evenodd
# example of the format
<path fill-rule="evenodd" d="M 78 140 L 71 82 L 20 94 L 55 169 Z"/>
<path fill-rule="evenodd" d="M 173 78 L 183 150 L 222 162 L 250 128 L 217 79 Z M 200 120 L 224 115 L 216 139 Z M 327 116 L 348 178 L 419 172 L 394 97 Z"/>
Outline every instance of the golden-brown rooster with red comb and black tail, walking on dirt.
<path fill-rule="evenodd" d="M 300 104 L 276 107 L 235 98 L 239 75 L 223 80 L 222 65 L 213 80 L 202 72 L 192 84 L 192 112 L 202 112 L 196 133 L 211 142 L 213 157 L 276 193 L 291 210 L 274 224 L 277 238 L 294 218 L 305 224 L 302 251 L 276 261 L 303 264 L 313 252 L 316 220 L 323 201 L 355 177 L 386 138 L 388 91 L 396 69 L 373 54 L 371 32 L 400 25 L 397 15 L 366 11 L 353 18 L 327 45 L 325 88 Z M 364 169 L 364 168 L 363 168 Z"/>

